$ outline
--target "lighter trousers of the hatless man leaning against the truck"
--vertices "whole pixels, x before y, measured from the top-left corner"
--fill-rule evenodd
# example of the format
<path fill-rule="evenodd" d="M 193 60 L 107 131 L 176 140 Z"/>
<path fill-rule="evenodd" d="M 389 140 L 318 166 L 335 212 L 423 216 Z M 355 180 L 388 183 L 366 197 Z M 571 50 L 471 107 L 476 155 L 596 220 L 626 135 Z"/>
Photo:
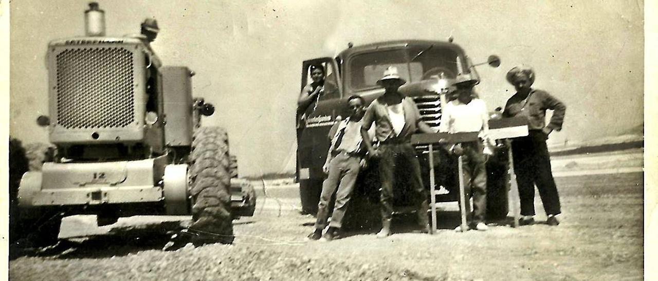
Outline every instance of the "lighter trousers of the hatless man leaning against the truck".
<path fill-rule="evenodd" d="M 329 162 L 329 175 L 322 182 L 322 194 L 320 194 L 320 203 L 318 203 L 315 228 L 323 229 L 326 227 L 329 216 L 329 200 L 331 200 L 334 192 L 336 192 L 336 204 L 334 204 L 334 213 L 331 216 L 329 226 L 336 228 L 342 226 L 343 216 L 352 190 L 354 190 L 360 167 L 361 157 L 346 154 L 345 152 L 338 153 Z"/>

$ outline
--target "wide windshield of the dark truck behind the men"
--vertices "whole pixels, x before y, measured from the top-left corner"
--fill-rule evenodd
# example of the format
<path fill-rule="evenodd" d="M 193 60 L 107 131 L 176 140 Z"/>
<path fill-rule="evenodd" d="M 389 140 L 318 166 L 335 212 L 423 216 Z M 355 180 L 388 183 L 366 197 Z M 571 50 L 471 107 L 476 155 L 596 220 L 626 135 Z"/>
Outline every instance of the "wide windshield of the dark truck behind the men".
<path fill-rule="evenodd" d="M 422 52 L 422 53 L 421 53 Z M 443 72 L 445 77 L 455 78 L 457 50 L 446 47 L 411 47 L 375 53 L 357 54 L 349 62 L 350 87 L 356 91 L 372 89 L 389 66 L 397 67 L 399 75 L 407 83 L 429 79 Z"/>

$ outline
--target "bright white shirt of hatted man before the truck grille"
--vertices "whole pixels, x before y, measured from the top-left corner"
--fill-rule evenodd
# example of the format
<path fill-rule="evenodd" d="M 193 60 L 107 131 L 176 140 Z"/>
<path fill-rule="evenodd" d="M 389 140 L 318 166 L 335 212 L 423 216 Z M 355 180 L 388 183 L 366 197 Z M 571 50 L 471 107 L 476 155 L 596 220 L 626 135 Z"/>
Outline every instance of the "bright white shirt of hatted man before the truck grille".
<path fill-rule="evenodd" d="M 482 131 L 488 125 L 489 115 L 484 100 L 473 98 L 468 104 L 453 100 L 442 110 L 439 131 L 444 133 L 467 133 Z"/>

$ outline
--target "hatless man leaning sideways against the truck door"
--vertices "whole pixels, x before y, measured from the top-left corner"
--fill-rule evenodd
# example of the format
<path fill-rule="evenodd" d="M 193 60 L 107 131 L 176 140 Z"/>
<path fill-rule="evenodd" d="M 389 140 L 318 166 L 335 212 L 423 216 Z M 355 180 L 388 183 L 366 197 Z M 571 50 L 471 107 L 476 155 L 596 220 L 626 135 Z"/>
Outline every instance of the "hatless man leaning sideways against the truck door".
<path fill-rule="evenodd" d="M 327 225 L 330 200 L 336 192 L 334 212 L 329 228 L 322 240 L 330 241 L 339 236 L 343 216 L 351 197 L 359 169 L 365 166 L 365 147 L 361 137 L 361 120 L 365 112 L 365 100 L 359 96 L 347 98 L 350 116 L 338 123 L 336 134 L 332 138 L 327 160 L 322 167 L 327 178 L 322 182 L 322 194 L 318 203 L 318 215 L 315 230 L 309 234 L 310 240 L 318 240 Z M 338 188 L 338 190 L 336 190 Z"/>

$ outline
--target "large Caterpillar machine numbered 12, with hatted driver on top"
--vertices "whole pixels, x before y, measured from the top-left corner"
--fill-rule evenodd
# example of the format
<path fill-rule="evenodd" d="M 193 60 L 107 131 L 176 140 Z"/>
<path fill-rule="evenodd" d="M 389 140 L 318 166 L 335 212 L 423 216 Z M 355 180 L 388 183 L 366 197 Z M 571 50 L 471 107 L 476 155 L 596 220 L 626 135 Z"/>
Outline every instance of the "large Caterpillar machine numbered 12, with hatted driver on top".
<path fill-rule="evenodd" d="M 149 45 L 155 19 L 139 34 L 107 37 L 104 16 L 90 3 L 86 36 L 48 45 L 50 116 L 38 123 L 57 154 L 20 182 L 29 243 L 57 242 L 62 217 L 78 214 L 97 215 L 99 226 L 133 215 L 191 215 L 179 241 L 231 243 L 232 220 L 253 215 L 256 198 L 236 178 L 226 131 L 201 126 L 215 107 L 192 97 L 189 68 L 162 66 Z"/>

